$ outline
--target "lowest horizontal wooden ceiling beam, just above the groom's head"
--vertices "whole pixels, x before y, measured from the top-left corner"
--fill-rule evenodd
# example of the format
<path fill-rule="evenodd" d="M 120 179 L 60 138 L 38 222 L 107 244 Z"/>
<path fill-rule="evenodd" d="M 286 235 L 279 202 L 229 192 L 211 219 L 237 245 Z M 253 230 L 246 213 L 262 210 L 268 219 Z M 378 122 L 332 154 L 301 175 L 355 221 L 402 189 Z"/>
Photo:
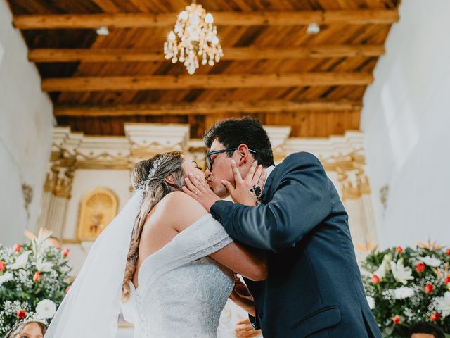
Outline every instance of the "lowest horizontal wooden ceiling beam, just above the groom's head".
<path fill-rule="evenodd" d="M 356 101 L 222 101 L 173 104 L 127 104 L 122 106 L 56 106 L 55 116 L 82 118 L 139 115 L 213 115 L 216 113 L 283 113 L 298 111 L 361 111 Z"/>

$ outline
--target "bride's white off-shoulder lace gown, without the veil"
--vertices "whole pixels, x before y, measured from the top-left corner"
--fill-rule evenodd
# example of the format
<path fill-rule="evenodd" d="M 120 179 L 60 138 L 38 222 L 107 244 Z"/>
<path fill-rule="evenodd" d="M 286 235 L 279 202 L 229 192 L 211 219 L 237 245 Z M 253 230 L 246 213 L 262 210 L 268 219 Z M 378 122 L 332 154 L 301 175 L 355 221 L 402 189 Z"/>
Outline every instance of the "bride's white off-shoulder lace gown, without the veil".
<path fill-rule="evenodd" d="M 129 301 L 122 304 L 134 337 L 217 337 L 234 279 L 231 270 L 207 256 L 231 242 L 220 223 L 205 215 L 148 256 L 138 289 L 130 282 Z"/>

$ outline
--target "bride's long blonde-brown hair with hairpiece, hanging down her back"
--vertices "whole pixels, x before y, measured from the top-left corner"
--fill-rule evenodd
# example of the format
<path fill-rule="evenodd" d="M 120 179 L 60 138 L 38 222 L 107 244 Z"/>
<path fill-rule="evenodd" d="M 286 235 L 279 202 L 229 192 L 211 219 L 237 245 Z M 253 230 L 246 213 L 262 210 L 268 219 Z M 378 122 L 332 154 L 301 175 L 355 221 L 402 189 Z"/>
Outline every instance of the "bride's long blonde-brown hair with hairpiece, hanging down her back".
<path fill-rule="evenodd" d="M 136 271 L 143 225 L 146 223 L 148 214 L 152 208 L 164 196 L 170 192 L 181 190 L 184 177 L 184 170 L 181 167 L 183 163 L 184 158 L 181 156 L 181 152 L 172 151 L 158 154 L 153 158 L 136 163 L 131 172 L 131 185 L 134 190 L 143 190 L 143 199 L 141 206 L 139 206 L 136 220 L 134 220 L 133 232 L 131 232 L 127 265 L 122 283 L 122 299 L 124 301 L 129 299 L 128 282 L 133 279 Z M 167 176 L 172 176 L 174 184 L 166 182 L 165 178 Z"/>

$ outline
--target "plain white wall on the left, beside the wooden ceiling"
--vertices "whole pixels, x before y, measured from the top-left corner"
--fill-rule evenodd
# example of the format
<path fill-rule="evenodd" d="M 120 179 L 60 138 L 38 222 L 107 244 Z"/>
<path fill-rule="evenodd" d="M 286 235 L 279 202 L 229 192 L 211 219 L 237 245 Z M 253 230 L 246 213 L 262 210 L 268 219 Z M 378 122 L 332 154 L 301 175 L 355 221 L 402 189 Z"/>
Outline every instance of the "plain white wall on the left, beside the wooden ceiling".
<path fill-rule="evenodd" d="M 49 163 L 52 105 L 41 91 L 41 79 L 27 60 L 22 35 L 11 25 L 6 1 L 0 1 L 0 242 L 23 239 L 34 230 Z M 3 55 L 3 57 L 2 57 Z M 30 218 L 24 208 L 22 184 L 33 190 Z"/>

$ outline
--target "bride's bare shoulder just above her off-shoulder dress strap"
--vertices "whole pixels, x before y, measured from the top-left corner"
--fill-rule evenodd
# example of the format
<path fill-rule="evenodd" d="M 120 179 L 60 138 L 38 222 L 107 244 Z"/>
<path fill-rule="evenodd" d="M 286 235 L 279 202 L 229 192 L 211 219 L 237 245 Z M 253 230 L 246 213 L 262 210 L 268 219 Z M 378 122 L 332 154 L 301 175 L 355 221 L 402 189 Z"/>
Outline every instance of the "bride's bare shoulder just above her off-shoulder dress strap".
<path fill-rule="evenodd" d="M 206 209 L 184 192 L 171 192 L 158 204 L 165 218 L 178 231 L 183 231 L 199 218 L 207 215 Z"/>

